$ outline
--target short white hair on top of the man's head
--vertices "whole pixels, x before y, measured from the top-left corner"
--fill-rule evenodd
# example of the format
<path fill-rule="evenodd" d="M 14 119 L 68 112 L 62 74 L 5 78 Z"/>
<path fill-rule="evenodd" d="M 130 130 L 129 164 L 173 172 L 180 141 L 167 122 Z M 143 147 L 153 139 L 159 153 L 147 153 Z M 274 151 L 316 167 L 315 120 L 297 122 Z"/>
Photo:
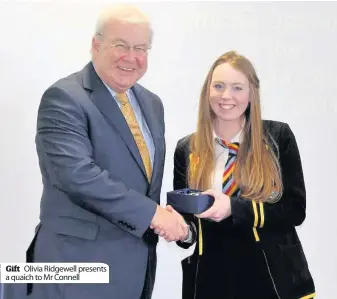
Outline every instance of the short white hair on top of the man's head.
<path fill-rule="evenodd" d="M 150 20 L 147 15 L 135 6 L 123 4 L 104 9 L 97 19 L 94 36 L 101 36 L 105 27 L 111 20 L 147 25 L 150 30 L 150 44 L 152 43 L 153 30 Z"/>

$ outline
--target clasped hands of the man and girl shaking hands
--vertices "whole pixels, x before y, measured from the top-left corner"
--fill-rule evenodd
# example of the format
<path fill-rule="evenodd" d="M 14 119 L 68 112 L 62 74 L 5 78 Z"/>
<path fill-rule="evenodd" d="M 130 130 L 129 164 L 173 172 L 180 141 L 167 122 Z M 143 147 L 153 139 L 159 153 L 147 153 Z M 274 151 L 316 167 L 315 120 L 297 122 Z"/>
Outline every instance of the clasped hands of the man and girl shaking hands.
<path fill-rule="evenodd" d="M 150 228 L 168 242 L 183 241 L 189 232 L 189 225 L 171 206 L 166 208 L 157 206 Z"/>

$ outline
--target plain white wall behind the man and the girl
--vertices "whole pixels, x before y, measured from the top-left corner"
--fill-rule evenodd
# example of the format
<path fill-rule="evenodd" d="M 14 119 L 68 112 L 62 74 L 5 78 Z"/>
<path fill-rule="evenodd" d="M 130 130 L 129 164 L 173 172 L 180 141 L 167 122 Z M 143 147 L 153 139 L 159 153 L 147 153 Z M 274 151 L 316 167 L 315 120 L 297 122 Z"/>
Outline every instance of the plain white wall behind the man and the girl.
<path fill-rule="evenodd" d="M 43 91 L 89 60 L 95 18 L 111 2 L 0 1 L 0 261 L 24 261 L 38 222 L 41 178 L 35 153 Z M 263 116 L 288 122 L 299 144 L 307 220 L 298 229 L 319 299 L 337 298 L 337 3 L 137 3 L 155 30 L 142 79 L 166 109 L 165 194 L 176 142 L 194 130 L 201 85 L 212 62 L 234 49 L 262 83 Z M 154 299 L 180 298 L 174 244 L 158 247 Z M 99 299 L 99 298 L 98 298 Z"/>

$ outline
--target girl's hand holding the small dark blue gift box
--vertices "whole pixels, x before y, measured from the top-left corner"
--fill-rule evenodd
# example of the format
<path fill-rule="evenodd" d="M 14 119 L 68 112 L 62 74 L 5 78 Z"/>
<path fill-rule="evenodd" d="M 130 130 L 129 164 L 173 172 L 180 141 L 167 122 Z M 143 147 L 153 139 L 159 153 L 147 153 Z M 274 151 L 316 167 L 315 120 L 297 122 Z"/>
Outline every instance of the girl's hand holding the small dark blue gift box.
<path fill-rule="evenodd" d="M 208 218 L 215 222 L 220 222 L 221 220 L 232 215 L 231 201 L 228 195 L 216 191 L 213 189 L 208 189 L 202 194 L 207 194 L 214 197 L 213 205 L 205 212 L 195 215 L 198 218 Z"/>

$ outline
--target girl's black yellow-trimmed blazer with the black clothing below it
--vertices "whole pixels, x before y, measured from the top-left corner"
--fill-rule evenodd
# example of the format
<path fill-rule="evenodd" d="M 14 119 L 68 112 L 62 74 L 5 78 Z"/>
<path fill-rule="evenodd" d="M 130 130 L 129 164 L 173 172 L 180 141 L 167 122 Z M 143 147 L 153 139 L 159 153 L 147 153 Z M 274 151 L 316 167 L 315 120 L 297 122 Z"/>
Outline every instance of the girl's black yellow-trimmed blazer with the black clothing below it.
<path fill-rule="evenodd" d="M 314 282 L 295 230 L 306 217 L 306 192 L 295 136 L 286 123 L 263 121 L 263 126 L 271 144 L 275 144 L 273 150 L 281 166 L 283 196 L 274 204 L 232 197 L 232 216 L 220 223 L 204 219 L 198 222 L 192 215 L 183 215 L 197 227 L 194 253 L 182 261 L 183 299 L 227 299 L 222 282 L 233 279 L 228 272 L 237 268 L 241 269 L 238 275 L 244 276 L 247 263 L 251 263 L 250 267 L 255 263 L 253 276 L 261 274 L 265 277 L 263 283 L 271 286 L 275 298 L 308 299 L 314 296 Z M 179 140 L 175 149 L 175 190 L 188 187 L 186 173 L 191 136 Z M 188 248 L 193 243 L 177 244 Z M 229 264 L 232 266 L 230 271 Z M 244 279 L 232 283 L 243 284 L 241 288 L 245 288 Z M 259 292 L 259 299 L 269 299 L 263 290 Z M 247 290 L 248 294 L 253 295 Z"/>

